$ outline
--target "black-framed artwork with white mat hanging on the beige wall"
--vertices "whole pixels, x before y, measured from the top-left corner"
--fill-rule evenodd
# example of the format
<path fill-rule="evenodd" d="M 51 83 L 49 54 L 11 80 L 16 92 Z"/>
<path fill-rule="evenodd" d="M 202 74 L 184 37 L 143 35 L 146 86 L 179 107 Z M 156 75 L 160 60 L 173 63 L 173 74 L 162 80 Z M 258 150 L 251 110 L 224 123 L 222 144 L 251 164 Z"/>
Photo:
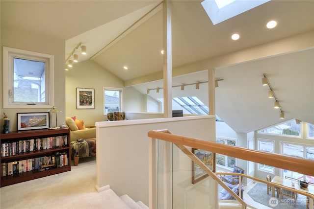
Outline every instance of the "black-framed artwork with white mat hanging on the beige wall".
<path fill-rule="evenodd" d="M 77 88 L 77 109 L 95 109 L 95 90 Z"/>

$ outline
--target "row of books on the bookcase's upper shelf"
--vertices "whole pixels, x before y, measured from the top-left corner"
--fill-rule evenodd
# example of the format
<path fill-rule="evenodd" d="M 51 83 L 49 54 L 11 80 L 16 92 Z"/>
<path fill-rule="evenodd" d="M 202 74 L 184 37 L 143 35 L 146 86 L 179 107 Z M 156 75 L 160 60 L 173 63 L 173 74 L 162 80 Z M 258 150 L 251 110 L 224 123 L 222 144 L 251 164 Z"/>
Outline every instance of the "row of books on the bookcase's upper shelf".
<path fill-rule="evenodd" d="M 67 135 L 13 141 L 1 144 L 1 157 L 18 155 L 19 153 L 32 152 L 43 149 L 52 149 L 55 147 L 62 147 L 67 145 Z"/>

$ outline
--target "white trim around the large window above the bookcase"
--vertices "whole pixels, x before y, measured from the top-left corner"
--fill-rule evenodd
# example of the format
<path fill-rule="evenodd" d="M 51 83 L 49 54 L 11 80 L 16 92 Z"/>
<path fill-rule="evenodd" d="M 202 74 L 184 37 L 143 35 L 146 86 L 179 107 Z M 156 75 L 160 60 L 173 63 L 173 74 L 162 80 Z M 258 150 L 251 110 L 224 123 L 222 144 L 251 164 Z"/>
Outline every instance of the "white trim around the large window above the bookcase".
<path fill-rule="evenodd" d="M 22 49 L 17 49 L 17 48 L 10 48 L 3 46 L 3 108 L 16 108 L 16 109 L 29 109 L 29 108 L 51 108 L 53 105 L 53 55 L 50 54 L 43 54 L 39 52 L 33 52 L 33 51 L 27 51 L 27 50 L 22 50 Z M 36 104 L 36 105 L 27 105 L 25 103 L 23 104 L 11 104 L 11 100 L 9 99 L 10 97 L 10 92 L 12 90 L 10 89 L 13 86 L 13 78 L 12 74 L 9 74 L 9 69 L 12 69 L 13 64 L 12 62 L 9 61 L 11 55 L 10 53 L 13 54 L 19 54 L 20 57 L 25 57 L 26 59 L 33 59 L 33 57 L 39 57 L 39 58 L 47 58 L 49 59 L 49 69 L 47 69 L 46 73 L 46 81 L 49 80 L 49 86 L 45 87 L 45 91 L 49 92 L 49 101 L 47 101 L 46 104 Z"/>

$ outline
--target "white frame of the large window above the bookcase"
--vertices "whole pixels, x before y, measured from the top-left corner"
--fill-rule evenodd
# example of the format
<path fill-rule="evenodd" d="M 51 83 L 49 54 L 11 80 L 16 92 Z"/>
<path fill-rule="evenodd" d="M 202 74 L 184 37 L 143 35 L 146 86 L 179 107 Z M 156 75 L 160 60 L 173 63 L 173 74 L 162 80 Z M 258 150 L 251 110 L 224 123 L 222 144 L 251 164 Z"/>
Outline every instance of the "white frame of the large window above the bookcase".
<path fill-rule="evenodd" d="M 51 108 L 54 102 L 53 87 L 53 55 L 3 46 L 3 108 Z M 13 102 L 14 88 L 13 59 L 21 58 L 45 62 L 45 102 Z"/>

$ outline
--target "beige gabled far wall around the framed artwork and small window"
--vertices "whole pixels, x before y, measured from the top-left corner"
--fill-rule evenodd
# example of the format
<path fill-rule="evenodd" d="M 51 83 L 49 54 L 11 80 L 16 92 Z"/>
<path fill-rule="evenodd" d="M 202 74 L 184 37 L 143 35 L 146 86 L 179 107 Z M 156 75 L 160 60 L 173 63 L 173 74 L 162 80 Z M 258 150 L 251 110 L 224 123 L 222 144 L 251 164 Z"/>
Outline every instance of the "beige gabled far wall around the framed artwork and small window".
<path fill-rule="evenodd" d="M 143 111 L 143 95 L 132 87 L 124 88 L 124 82 L 108 70 L 93 61 L 87 60 L 73 65 L 66 71 L 66 116 L 76 116 L 84 120 L 85 125 L 94 125 L 97 121 L 105 121 L 104 87 L 123 89 L 122 111 Z M 77 109 L 76 88 L 95 90 L 95 109 Z"/>

